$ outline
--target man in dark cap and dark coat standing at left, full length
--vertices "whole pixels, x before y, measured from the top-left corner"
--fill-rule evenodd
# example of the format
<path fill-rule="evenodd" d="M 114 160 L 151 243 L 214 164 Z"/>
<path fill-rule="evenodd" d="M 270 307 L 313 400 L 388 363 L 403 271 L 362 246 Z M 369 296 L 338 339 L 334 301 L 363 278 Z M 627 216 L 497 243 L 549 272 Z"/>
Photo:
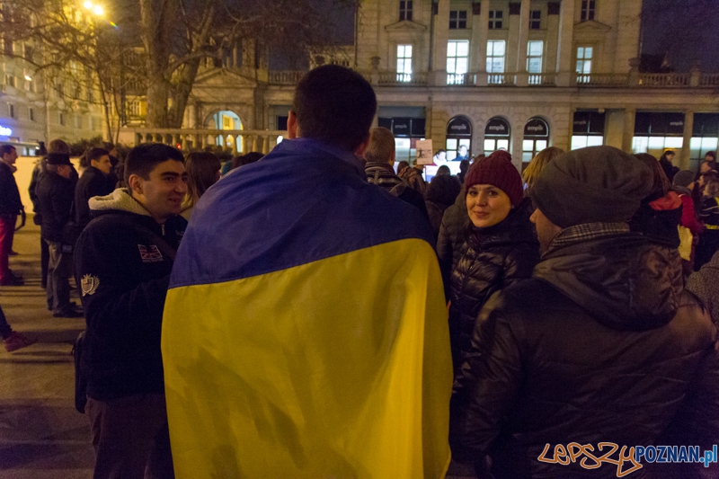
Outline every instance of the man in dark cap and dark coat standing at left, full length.
<path fill-rule="evenodd" d="M 38 180 L 35 192 L 42 223 L 40 236 L 49 246 L 48 309 L 55 317 L 79 317 L 82 313 L 70 303 L 72 275 L 72 244 L 67 241 L 66 226 L 70 221 L 75 185 L 71 179 L 72 164 L 67 153 L 48 155 L 47 173 Z"/>

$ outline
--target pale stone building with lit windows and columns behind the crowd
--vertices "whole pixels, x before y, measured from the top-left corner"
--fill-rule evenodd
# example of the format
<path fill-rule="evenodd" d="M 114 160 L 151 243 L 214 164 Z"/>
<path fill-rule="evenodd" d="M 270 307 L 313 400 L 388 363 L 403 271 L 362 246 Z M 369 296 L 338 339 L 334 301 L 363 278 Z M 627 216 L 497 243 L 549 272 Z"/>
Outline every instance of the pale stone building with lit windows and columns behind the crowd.
<path fill-rule="evenodd" d="M 641 0 L 364 0 L 354 44 L 311 64 L 368 78 L 399 159 L 431 138 L 450 159 L 460 146 L 507 149 L 519 168 L 546 146 L 594 145 L 673 149 L 697 168 L 717 146 L 719 74 L 641 73 L 641 12 Z M 268 70 L 252 48 L 228 51 L 200 70 L 182 130 L 142 129 L 140 114 L 121 137 L 268 151 L 303 74 Z"/>

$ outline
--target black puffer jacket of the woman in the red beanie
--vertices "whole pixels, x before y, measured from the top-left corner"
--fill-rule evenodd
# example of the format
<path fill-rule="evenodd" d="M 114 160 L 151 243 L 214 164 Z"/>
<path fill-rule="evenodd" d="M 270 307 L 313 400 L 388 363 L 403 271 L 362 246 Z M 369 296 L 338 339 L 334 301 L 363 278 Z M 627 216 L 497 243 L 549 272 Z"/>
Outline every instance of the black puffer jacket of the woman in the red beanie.
<path fill-rule="evenodd" d="M 502 288 L 529 278 L 538 261 L 539 244 L 526 206 L 513 209 L 498 225 L 472 227 L 466 234 L 450 279 L 449 337 L 456 371 L 484 303 Z"/>

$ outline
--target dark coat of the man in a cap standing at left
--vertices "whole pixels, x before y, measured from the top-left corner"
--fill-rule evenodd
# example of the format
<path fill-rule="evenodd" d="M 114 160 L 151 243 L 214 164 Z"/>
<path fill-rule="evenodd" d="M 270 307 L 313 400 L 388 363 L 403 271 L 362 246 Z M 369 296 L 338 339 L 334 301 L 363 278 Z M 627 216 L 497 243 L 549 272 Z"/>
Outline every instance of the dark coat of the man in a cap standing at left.
<path fill-rule="evenodd" d="M 75 185 L 71 179 L 58 173 L 42 173 L 35 187 L 38 196 L 38 212 L 42 217 L 40 235 L 42 239 L 61 243 L 63 233 L 70 220 L 70 211 L 75 200 Z"/>

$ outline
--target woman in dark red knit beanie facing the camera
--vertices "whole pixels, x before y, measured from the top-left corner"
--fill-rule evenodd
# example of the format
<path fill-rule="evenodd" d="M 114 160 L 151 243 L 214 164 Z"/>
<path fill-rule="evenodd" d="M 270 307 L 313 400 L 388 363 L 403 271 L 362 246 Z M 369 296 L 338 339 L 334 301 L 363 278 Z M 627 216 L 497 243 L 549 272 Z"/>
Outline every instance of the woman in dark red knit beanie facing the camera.
<path fill-rule="evenodd" d="M 469 350 L 475 320 L 496 291 L 531 276 L 539 244 L 523 200 L 522 179 L 511 155 L 495 151 L 465 178 L 465 243 L 450 275 L 449 334 L 457 376 Z"/>

